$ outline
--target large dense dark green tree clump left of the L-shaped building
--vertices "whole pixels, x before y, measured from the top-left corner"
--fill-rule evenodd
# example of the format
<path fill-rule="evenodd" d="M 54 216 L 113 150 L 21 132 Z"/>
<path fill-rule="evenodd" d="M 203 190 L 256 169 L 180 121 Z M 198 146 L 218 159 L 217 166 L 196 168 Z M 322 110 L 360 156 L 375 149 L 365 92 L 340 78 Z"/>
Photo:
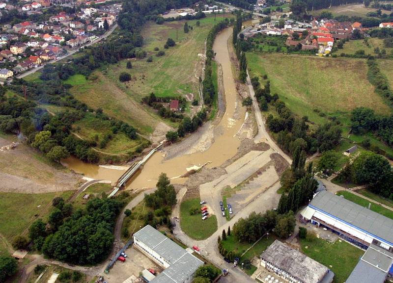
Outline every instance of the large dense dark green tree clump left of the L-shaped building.
<path fill-rule="evenodd" d="M 112 249 L 112 232 L 124 205 L 123 197 L 94 198 L 85 209 L 75 211 L 72 205 L 55 199 L 55 208 L 48 217 L 49 230 L 42 220 L 36 220 L 29 229 L 30 240 L 36 248 L 42 246 L 48 257 L 74 264 L 98 263 Z"/>

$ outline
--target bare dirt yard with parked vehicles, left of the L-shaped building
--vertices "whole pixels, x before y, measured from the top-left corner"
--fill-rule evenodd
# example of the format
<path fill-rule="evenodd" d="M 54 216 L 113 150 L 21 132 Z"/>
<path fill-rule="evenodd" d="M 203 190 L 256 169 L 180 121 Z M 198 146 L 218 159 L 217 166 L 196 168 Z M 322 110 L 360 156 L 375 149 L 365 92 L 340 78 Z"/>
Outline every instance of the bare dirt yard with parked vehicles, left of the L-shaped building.
<path fill-rule="evenodd" d="M 123 283 L 132 275 L 138 278 L 143 269 L 152 268 L 156 275 L 162 271 L 161 267 L 133 247 L 128 248 L 126 254 L 125 262 L 117 260 L 109 274 L 102 274 L 107 283 Z"/>

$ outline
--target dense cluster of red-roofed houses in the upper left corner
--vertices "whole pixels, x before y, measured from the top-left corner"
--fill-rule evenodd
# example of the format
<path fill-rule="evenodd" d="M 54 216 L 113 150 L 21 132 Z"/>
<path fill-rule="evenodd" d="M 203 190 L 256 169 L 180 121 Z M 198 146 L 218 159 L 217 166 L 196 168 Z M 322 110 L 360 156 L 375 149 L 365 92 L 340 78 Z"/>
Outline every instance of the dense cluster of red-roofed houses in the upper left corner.
<path fill-rule="evenodd" d="M 39 11 L 56 5 L 50 1 L 23 4 L 20 10 L 22 13 Z M 0 9 L 5 9 L 7 5 L 0 3 Z M 114 25 L 120 10 L 121 4 L 87 5 L 77 9 L 78 12 L 74 14 L 60 12 L 43 22 L 3 25 L 0 33 L 0 74 L 5 75 L 0 76 L 0 82 L 97 40 Z"/>

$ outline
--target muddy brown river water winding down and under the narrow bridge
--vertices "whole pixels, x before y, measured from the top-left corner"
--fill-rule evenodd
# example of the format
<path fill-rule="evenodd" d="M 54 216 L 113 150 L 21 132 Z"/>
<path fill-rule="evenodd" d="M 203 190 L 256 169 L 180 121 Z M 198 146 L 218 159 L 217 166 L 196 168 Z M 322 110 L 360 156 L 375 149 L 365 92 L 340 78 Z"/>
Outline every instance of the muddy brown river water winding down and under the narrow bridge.
<path fill-rule="evenodd" d="M 185 154 L 165 160 L 163 153 L 157 152 L 145 163 L 140 172 L 128 181 L 127 189 L 154 187 L 158 176 L 164 172 L 169 178 L 180 176 L 187 172 L 186 168 L 193 165 L 203 165 L 211 162 L 206 167 L 220 166 L 227 159 L 234 156 L 240 145 L 236 133 L 241 128 L 245 118 L 245 108 L 241 105 L 241 99 L 237 95 L 235 79 L 232 74 L 232 65 L 228 51 L 228 39 L 232 34 L 232 28 L 226 28 L 217 35 L 214 42 L 216 61 L 222 65 L 225 88 L 225 114 L 217 127 L 220 135 L 215 136 L 212 145 L 204 152 Z M 231 43 L 230 43 L 231 44 Z M 237 119 L 233 119 L 237 117 Z M 70 157 L 63 164 L 69 169 L 93 179 L 116 181 L 122 170 L 102 168 L 97 165 L 86 164 L 77 158 Z M 186 178 L 171 180 L 172 183 L 182 183 Z"/>

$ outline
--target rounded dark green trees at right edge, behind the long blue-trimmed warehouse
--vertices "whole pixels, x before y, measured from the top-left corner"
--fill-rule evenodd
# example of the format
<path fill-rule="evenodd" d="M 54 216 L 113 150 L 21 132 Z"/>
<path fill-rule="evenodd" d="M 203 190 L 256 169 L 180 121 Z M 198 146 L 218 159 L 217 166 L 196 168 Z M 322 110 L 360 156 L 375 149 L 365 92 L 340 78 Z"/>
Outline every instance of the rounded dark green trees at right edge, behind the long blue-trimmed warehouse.
<path fill-rule="evenodd" d="M 338 178 L 367 185 L 372 192 L 393 199 L 393 171 L 389 160 L 382 155 L 362 152 L 341 170 Z"/>

